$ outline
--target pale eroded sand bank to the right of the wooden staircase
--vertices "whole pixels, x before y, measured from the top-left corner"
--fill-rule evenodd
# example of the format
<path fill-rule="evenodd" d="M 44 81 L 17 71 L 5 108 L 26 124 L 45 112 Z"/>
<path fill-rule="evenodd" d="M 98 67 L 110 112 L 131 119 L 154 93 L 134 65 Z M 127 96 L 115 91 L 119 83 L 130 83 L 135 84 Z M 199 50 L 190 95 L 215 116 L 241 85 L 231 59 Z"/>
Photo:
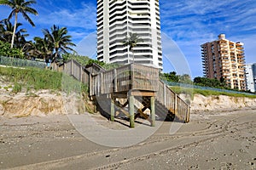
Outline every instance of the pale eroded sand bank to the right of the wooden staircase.
<path fill-rule="evenodd" d="M 236 110 L 246 107 L 256 107 L 256 99 L 237 98 L 225 95 L 203 96 L 195 94 L 191 103 L 191 111 L 223 111 Z"/>

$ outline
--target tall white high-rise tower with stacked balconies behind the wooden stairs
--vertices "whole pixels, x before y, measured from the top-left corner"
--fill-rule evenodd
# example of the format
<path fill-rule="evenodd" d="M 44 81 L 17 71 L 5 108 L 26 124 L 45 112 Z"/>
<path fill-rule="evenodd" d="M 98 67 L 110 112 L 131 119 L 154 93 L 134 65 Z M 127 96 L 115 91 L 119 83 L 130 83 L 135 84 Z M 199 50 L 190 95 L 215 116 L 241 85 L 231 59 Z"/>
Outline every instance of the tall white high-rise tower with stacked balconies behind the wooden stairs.
<path fill-rule="evenodd" d="M 143 39 L 133 54 L 123 43 L 130 33 Z M 159 0 L 97 0 L 97 59 L 162 71 Z"/>

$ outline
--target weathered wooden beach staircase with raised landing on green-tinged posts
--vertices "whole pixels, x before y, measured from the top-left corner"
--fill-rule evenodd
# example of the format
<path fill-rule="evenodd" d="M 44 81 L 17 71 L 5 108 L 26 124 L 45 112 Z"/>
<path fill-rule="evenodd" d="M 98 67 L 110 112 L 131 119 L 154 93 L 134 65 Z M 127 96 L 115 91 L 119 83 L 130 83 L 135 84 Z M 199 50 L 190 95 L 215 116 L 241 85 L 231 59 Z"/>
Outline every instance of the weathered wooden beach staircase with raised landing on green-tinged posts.
<path fill-rule="evenodd" d="M 189 122 L 189 104 L 160 81 L 156 68 L 131 64 L 105 71 L 99 65 L 82 66 L 72 59 L 63 66 L 63 71 L 89 85 L 89 95 L 98 111 L 112 121 L 121 112 L 130 119 L 131 127 L 138 116 L 152 126 L 155 118 Z M 120 99 L 126 99 L 125 104 L 120 104 Z M 136 102 L 143 106 L 137 107 Z M 149 115 L 145 113 L 147 109 Z"/>

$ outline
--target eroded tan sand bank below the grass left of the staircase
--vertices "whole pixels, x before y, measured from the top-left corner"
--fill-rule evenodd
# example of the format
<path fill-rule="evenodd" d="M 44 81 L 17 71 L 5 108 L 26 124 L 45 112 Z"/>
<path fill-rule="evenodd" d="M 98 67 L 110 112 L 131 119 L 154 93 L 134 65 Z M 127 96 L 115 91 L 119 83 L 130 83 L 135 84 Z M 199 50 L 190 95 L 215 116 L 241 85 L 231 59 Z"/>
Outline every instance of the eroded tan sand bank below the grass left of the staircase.
<path fill-rule="evenodd" d="M 49 90 L 33 94 L 1 94 L 0 116 L 24 117 L 79 114 L 81 101 L 74 95 L 67 97 Z"/>

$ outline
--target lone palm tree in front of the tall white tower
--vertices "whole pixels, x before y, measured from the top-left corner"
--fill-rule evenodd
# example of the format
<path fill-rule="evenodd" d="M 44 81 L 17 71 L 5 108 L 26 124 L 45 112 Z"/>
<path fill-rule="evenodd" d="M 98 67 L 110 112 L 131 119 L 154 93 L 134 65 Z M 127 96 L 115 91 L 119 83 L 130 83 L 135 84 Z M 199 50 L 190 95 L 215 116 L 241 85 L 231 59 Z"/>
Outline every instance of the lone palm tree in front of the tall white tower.
<path fill-rule="evenodd" d="M 138 37 L 137 33 L 129 33 L 129 37 L 125 38 L 125 41 L 123 42 L 124 46 L 129 46 L 129 50 L 132 53 L 132 59 L 134 63 L 134 51 L 133 48 L 137 46 L 138 42 L 144 42 L 143 39 Z M 129 59 L 128 59 L 129 60 Z"/>

